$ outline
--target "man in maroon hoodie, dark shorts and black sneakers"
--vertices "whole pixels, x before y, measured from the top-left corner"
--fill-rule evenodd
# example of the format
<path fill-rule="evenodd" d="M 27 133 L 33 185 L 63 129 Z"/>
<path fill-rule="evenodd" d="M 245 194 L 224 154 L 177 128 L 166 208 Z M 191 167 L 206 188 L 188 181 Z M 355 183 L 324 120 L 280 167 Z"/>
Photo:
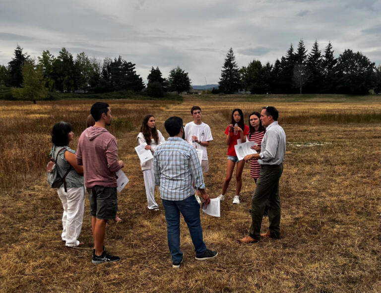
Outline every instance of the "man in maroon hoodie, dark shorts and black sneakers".
<path fill-rule="evenodd" d="M 120 257 L 106 253 L 103 245 L 107 220 L 115 219 L 118 210 L 117 177 L 123 168 L 118 160 L 115 137 L 107 131 L 111 124 L 111 110 L 107 103 L 97 102 L 91 107 L 94 126 L 86 128 L 79 137 L 77 163 L 83 166 L 85 186 L 89 192 L 91 229 L 94 238 L 94 264 L 119 261 Z"/>

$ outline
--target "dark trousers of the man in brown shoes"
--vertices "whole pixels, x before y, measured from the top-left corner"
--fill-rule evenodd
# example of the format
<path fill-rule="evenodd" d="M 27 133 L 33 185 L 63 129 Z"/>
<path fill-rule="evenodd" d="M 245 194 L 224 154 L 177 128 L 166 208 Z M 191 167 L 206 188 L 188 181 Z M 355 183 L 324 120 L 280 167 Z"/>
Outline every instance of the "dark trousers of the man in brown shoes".
<path fill-rule="evenodd" d="M 282 176 L 283 164 L 262 165 L 259 178 L 252 198 L 252 225 L 249 235 L 259 239 L 260 225 L 262 224 L 263 212 L 268 205 L 269 231 L 273 237 L 280 236 L 280 197 L 279 179 Z"/>

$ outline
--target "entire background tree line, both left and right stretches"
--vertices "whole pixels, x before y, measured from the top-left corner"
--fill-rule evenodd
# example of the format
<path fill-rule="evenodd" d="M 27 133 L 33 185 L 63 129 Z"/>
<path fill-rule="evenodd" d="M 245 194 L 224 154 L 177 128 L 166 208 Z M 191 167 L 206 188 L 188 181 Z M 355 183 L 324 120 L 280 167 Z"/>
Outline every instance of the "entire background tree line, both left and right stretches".
<path fill-rule="evenodd" d="M 338 58 L 333 55 L 331 43 L 324 52 L 315 41 L 308 53 L 300 40 L 295 50 L 291 44 L 285 56 L 274 64 L 259 60 L 239 67 L 230 48 L 221 70 L 219 87 L 212 93 L 233 94 L 246 91 L 252 94 L 368 94 L 381 93 L 381 65 L 376 66 L 362 53 L 345 50 Z M 164 78 L 159 67 L 152 66 L 147 85 L 136 73 L 135 64 L 118 58 L 90 58 L 84 52 L 74 58 L 65 48 L 58 56 L 49 50 L 32 59 L 17 46 L 7 66 L 0 65 L 0 91 L 12 88 L 11 95 L 20 100 L 40 100 L 49 92 L 106 93 L 133 91 L 152 97 L 163 97 L 168 91 L 177 93 L 191 89 L 188 72 L 177 66 Z"/>

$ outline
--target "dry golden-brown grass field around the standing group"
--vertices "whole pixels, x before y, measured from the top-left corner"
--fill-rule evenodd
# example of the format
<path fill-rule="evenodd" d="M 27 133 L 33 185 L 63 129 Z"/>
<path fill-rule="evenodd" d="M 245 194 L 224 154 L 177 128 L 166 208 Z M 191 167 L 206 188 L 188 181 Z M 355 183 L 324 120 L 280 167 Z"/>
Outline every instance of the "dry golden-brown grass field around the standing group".
<path fill-rule="evenodd" d="M 220 99 L 218 101 L 217 99 Z M 94 101 L 0 102 L 0 292 L 380 292 L 380 98 L 185 97 L 173 101 L 108 101 L 114 116 L 120 158 L 130 179 L 119 194 L 120 224 L 110 223 L 105 245 L 119 263 L 91 264 L 88 200 L 80 240 L 68 249 L 61 241 L 62 206 L 44 169 L 50 131 L 71 122 L 76 139 Z M 234 102 L 233 102 L 234 101 Z M 181 221 L 184 265 L 172 269 L 164 211 L 146 208 L 143 176 L 133 147 L 143 115 L 155 115 L 168 137 L 170 116 L 191 120 L 202 108 L 213 142 L 208 149 L 207 192 L 216 197 L 226 170 L 223 134 L 232 109 L 247 114 L 272 105 L 287 135 L 280 181 L 279 240 L 237 243 L 247 234 L 255 188 L 249 164 L 243 173 L 241 204 L 232 205 L 235 179 L 221 205 L 221 218 L 201 215 L 204 240 L 218 256 L 194 259 L 191 238 Z M 76 148 L 77 140 L 72 147 Z M 266 231 L 267 218 L 262 223 Z"/>

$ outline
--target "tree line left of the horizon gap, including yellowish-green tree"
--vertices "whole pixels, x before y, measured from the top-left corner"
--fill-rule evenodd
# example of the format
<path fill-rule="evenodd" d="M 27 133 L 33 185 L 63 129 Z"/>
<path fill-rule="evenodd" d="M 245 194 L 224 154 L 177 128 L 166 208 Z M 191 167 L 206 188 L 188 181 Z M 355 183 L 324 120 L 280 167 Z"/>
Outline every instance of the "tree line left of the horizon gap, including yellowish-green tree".
<path fill-rule="evenodd" d="M 22 50 L 17 46 L 8 65 L 0 65 L 0 88 L 12 88 L 12 96 L 20 100 L 41 100 L 54 91 L 141 92 L 146 88 L 148 95 L 163 97 L 167 91 L 181 93 L 191 89 L 188 72 L 179 66 L 170 71 L 168 78 L 162 77 L 159 67 L 152 67 L 146 86 L 136 73 L 135 64 L 121 56 L 101 62 L 82 52 L 74 59 L 63 48 L 57 57 L 46 50 L 37 59 L 31 59 Z"/>

